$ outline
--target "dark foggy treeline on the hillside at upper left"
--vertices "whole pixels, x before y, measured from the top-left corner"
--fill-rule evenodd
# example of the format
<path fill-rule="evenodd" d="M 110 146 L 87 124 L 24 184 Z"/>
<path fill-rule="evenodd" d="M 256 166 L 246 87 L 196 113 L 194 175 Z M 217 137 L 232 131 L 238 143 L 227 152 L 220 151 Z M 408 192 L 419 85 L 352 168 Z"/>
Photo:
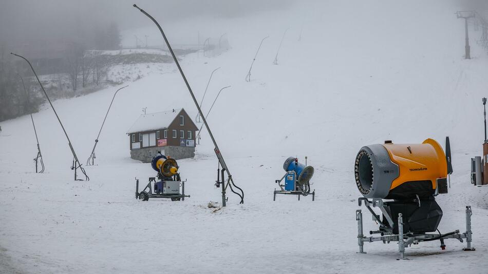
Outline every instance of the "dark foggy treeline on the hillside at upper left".
<path fill-rule="evenodd" d="M 52 80 L 43 81 L 41 76 L 45 89 L 56 98 L 74 96 L 80 88 L 100 85 L 107 64 L 105 58 L 92 50 L 121 47 L 120 32 L 115 23 L 91 30 L 78 28 L 71 33 L 46 38 L 0 44 L 0 121 L 36 112 L 45 100 L 28 64 L 10 52 L 28 58 L 37 74 L 56 75 L 56 84 Z"/>

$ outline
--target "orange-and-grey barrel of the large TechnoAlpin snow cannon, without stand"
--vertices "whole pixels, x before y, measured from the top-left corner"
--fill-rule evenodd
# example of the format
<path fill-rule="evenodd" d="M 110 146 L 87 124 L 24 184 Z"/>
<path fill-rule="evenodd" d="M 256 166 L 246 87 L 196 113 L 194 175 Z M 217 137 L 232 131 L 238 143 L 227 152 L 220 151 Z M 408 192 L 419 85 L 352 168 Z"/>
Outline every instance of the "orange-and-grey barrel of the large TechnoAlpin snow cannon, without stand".
<path fill-rule="evenodd" d="M 365 198 L 425 199 L 447 193 L 447 160 L 433 139 L 422 144 L 364 146 L 356 156 L 355 181 Z"/>

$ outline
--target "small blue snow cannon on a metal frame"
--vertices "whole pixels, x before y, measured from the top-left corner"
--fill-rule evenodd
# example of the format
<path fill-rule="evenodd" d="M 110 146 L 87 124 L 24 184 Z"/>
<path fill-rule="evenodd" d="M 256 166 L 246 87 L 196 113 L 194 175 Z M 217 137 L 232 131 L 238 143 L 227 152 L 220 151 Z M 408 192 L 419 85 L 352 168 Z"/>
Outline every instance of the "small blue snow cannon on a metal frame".
<path fill-rule="evenodd" d="M 298 158 L 288 157 L 283 164 L 283 169 L 286 173 L 281 177 L 280 180 L 276 180 L 275 183 L 278 184 L 281 190 L 274 190 L 273 201 L 276 200 L 276 194 L 294 194 L 298 195 L 298 200 L 300 200 L 300 195 L 310 194 L 310 179 L 313 176 L 313 167 L 307 166 L 307 157 L 305 157 L 305 164 L 299 163 Z M 284 184 L 281 182 L 285 181 Z M 315 200 L 315 190 L 312 191 L 312 201 Z"/>

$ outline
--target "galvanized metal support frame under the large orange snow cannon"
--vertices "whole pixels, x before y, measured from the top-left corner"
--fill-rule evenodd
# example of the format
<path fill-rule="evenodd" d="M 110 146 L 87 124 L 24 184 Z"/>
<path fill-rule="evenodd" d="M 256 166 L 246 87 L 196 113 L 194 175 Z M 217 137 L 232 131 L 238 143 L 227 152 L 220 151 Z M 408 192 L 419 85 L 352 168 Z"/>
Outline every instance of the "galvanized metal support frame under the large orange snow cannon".
<path fill-rule="evenodd" d="M 383 205 L 383 200 L 382 199 L 372 199 L 372 201 L 369 201 L 366 198 L 359 198 L 358 203 L 359 206 L 361 206 L 362 201 L 364 201 L 364 205 L 368 208 L 368 210 L 371 212 L 373 215 L 373 220 L 382 224 L 380 220 L 380 216 L 376 214 L 371 207 L 379 207 L 380 210 L 384 213 L 386 213 L 386 208 Z M 391 232 L 382 232 L 382 231 L 369 231 L 370 234 L 374 233 L 381 233 L 380 237 L 365 237 L 363 234 L 363 213 L 361 212 L 361 209 L 356 210 L 356 221 L 358 221 L 358 245 L 359 245 L 359 253 L 366 253 L 364 252 L 363 246 L 365 242 L 383 242 L 384 244 L 390 243 L 390 242 L 398 242 L 398 251 L 400 252 L 400 258 L 397 260 L 408 260 L 405 257 L 405 247 L 408 247 L 412 244 L 418 244 L 420 242 L 424 241 L 432 241 L 429 239 L 433 238 L 439 238 L 438 240 L 441 241 L 441 247 L 444 246 L 444 239 L 457 239 L 461 243 L 463 242 L 463 239 L 466 239 L 466 247 L 463 248 L 464 251 L 474 251 L 475 248 L 471 246 L 472 242 L 472 231 L 471 231 L 471 216 L 473 212 L 471 211 L 471 206 L 466 206 L 466 232 L 464 233 L 459 233 L 459 230 L 455 230 L 453 232 L 447 233 L 448 235 L 445 235 L 441 238 L 439 238 L 439 234 L 404 234 L 403 233 L 403 218 L 402 218 L 402 213 L 398 214 L 398 235 L 392 234 Z M 390 224 L 390 227 L 393 227 L 393 220 L 389 218 L 388 214 L 384 214 L 384 216 L 387 218 L 388 223 Z M 380 225 L 383 226 L 383 225 Z M 385 228 L 383 226 L 383 228 Z M 391 230 L 391 228 L 390 228 Z"/>

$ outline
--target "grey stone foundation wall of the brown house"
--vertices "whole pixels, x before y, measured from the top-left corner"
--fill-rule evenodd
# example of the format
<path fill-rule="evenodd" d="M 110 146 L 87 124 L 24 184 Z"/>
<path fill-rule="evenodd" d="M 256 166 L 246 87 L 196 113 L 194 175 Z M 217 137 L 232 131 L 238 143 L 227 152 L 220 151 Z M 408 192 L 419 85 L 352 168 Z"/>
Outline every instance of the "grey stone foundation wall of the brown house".
<path fill-rule="evenodd" d="M 158 154 L 158 150 L 161 150 L 161 154 L 165 156 L 170 156 L 175 160 L 193 158 L 195 156 L 194 147 L 175 147 L 175 146 L 165 146 L 165 147 L 145 147 L 141 149 L 130 150 L 130 158 L 134 160 L 139 160 L 144 163 L 151 162 L 153 157 Z M 151 151 L 151 155 L 149 155 Z"/>

